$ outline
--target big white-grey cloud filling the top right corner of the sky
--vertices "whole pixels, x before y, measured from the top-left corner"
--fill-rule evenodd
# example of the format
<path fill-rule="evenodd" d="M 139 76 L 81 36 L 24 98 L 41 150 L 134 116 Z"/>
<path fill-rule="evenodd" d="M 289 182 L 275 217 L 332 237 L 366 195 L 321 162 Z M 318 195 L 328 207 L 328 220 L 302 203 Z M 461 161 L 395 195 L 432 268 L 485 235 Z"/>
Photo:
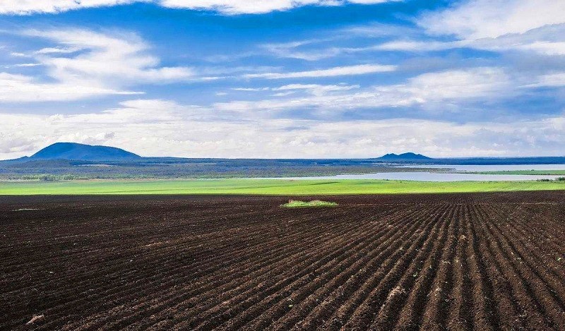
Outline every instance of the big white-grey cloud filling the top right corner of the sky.
<path fill-rule="evenodd" d="M 383 50 L 433 52 L 468 47 L 561 56 L 565 54 L 563 13 L 565 1 L 561 0 L 460 1 L 451 8 L 417 18 L 428 34 L 425 37 L 414 32 L 408 32 L 412 35 L 408 37 L 406 33 L 397 33 L 401 36 L 397 40 L 368 47 L 331 49 L 330 54 Z M 458 40 L 430 40 L 430 35 L 453 35 Z"/>

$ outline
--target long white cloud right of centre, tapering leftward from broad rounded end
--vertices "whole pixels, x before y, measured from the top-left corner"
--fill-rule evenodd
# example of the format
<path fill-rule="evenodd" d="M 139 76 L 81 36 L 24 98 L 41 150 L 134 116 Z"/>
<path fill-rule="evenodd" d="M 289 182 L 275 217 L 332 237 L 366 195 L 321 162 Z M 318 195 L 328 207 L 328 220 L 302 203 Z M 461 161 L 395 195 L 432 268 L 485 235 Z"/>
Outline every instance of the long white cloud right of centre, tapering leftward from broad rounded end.
<path fill-rule="evenodd" d="M 343 111 L 345 109 L 409 107 L 415 104 L 436 104 L 446 108 L 444 102 L 473 100 L 497 100 L 509 97 L 513 91 L 511 79 L 501 68 L 471 68 L 436 73 L 424 73 L 398 85 L 377 85 L 371 88 L 356 88 L 335 85 L 285 85 L 283 89 L 310 89 L 311 96 L 258 101 L 232 101 L 215 104 L 221 111 L 254 112 L 284 109 L 322 109 Z M 280 89 L 280 88 L 279 88 Z M 326 89 L 324 91 L 324 89 Z M 335 93 L 328 94 L 333 90 Z"/>

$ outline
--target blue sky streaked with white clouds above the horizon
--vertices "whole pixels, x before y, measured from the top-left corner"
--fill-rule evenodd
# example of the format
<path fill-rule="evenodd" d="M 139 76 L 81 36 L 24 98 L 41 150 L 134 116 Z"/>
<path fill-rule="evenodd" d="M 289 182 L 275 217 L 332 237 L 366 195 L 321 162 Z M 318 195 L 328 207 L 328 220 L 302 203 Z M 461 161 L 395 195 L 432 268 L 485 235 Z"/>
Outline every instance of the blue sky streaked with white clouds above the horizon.
<path fill-rule="evenodd" d="M 0 0 L 0 159 L 565 155 L 563 0 Z"/>

